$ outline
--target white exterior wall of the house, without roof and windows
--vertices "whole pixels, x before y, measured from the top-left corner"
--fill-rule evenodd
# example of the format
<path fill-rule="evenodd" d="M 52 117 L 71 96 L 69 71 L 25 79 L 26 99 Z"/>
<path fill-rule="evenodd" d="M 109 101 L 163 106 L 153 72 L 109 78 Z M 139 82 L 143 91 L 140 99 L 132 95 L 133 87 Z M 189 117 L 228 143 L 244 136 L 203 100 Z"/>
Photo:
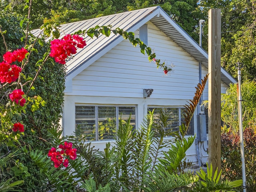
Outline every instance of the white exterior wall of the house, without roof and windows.
<path fill-rule="evenodd" d="M 156 64 L 123 40 L 104 56 L 72 80 L 72 91 L 65 93 L 63 127 L 64 135 L 75 131 L 76 105 L 128 105 L 136 106 L 136 128 L 140 128 L 148 106 L 178 107 L 194 97 L 199 82 L 198 62 L 151 22 L 148 22 L 148 46 L 168 65 L 174 65 L 167 76 Z M 139 36 L 139 30 L 135 31 Z M 203 68 L 202 77 L 208 72 Z M 224 92 L 224 84 L 222 84 Z M 143 89 L 154 89 L 150 98 L 143 98 Z M 203 95 L 208 100 L 208 89 Z M 194 116 L 196 131 L 196 116 Z M 96 148 L 103 149 L 109 141 L 96 141 Z M 110 141 L 114 142 L 114 141 Z M 187 152 L 192 162 L 197 162 L 197 146 Z"/>

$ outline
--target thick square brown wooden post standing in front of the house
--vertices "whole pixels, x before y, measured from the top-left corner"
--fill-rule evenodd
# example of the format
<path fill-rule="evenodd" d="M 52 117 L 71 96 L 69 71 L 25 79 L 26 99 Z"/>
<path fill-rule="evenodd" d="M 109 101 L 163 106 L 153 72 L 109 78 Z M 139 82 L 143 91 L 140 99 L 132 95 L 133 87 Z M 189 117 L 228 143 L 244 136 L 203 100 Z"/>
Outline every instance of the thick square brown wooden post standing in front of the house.
<path fill-rule="evenodd" d="M 221 138 L 220 138 L 220 40 L 221 17 L 220 9 L 210 9 L 209 15 L 209 40 L 208 40 L 208 128 L 209 128 L 209 163 L 214 171 L 221 169 Z"/>

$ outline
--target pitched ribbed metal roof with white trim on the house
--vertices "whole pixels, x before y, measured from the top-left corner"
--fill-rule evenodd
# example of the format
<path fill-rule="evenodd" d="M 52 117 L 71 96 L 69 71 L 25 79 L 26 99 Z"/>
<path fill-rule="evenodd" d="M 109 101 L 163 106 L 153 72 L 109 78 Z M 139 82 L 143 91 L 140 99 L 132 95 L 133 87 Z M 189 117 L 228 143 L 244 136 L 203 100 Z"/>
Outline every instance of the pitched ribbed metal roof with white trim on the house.
<path fill-rule="evenodd" d="M 64 36 L 64 33 L 72 34 L 78 30 L 89 29 L 97 25 L 112 25 L 112 28 L 119 27 L 125 31 L 135 31 L 148 21 L 152 22 L 181 48 L 188 52 L 188 54 L 208 68 L 207 52 L 202 49 L 178 24 L 176 24 L 176 22 L 174 22 L 160 6 L 62 24 L 60 26 L 60 37 Z M 34 35 L 39 32 L 40 30 L 32 31 Z M 90 64 L 95 62 L 110 49 L 114 48 L 114 46 L 120 43 L 123 38 L 111 34 L 110 37 L 100 35 L 98 38 L 94 39 L 87 36 L 85 40 L 87 44 L 86 47 L 78 49 L 78 52 L 74 57 L 66 62 L 67 77 L 69 78 L 73 78 L 82 72 L 82 70 L 86 69 Z M 236 80 L 224 70 L 224 68 L 221 68 L 221 80 L 227 85 L 236 83 Z"/>

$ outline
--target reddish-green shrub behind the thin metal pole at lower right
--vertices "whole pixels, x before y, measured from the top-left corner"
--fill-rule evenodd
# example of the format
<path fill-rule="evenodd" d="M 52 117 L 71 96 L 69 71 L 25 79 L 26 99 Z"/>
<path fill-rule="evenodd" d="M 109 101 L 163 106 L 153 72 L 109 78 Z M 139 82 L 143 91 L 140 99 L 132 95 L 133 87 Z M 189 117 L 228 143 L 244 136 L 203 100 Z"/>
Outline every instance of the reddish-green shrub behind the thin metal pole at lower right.
<path fill-rule="evenodd" d="M 222 175 L 228 180 L 242 179 L 239 132 L 222 132 Z M 255 128 L 244 129 L 244 158 L 246 165 L 246 184 L 248 191 L 256 190 L 256 134 Z"/>

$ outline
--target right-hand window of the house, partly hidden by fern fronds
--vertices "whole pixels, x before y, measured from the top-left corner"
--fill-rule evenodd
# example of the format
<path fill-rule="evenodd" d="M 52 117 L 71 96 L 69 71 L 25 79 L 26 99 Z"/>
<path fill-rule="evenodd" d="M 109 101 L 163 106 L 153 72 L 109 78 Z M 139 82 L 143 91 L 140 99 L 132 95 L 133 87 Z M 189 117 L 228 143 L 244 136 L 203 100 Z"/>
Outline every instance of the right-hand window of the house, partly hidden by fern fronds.
<path fill-rule="evenodd" d="M 154 119 L 158 119 L 158 116 L 160 114 L 160 109 L 164 108 L 164 107 L 149 107 L 148 110 L 152 111 L 154 110 Z M 168 119 L 169 123 L 168 126 L 166 126 L 165 131 L 178 131 L 179 130 L 179 126 L 185 122 L 184 121 L 184 116 L 183 114 L 185 113 L 184 110 L 185 108 L 165 108 L 168 112 L 171 113 L 170 119 Z M 192 117 L 189 127 L 188 127 L 188 131 L 187 131 L 188 135 L 194 135 L 194 118 Z"/>

